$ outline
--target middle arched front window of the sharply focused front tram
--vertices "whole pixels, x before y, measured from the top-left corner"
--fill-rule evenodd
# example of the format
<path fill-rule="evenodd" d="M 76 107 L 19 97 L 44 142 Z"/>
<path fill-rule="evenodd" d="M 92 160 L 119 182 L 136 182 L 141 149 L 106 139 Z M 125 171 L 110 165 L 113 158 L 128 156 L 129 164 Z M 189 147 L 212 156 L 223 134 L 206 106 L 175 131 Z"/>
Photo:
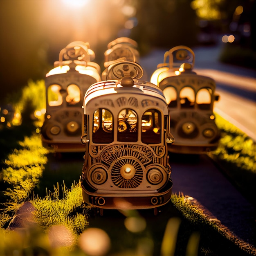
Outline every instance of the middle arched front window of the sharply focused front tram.
<path fill-rule="evenodd" d="M 137 114 L 131 109 L 124 109 L 118 114 L 117 140 L 122 142 L 136 142 Z"/>

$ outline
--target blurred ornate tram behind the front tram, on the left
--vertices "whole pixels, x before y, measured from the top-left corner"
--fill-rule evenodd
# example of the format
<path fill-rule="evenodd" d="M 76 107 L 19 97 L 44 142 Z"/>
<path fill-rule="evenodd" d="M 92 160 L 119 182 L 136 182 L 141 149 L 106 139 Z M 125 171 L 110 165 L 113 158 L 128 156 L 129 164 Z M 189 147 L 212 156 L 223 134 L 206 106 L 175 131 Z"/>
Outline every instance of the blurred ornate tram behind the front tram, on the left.
<path fill-rule="evenodd" d="M 86 90 L 101 81 L 100 67 L 89 43 L 75 41 L 59 54 L 54 69 L 46 74 L 46 114 L 41 128 L 45 146 L 55 152 L 83 152 L 82 105 Z"/>

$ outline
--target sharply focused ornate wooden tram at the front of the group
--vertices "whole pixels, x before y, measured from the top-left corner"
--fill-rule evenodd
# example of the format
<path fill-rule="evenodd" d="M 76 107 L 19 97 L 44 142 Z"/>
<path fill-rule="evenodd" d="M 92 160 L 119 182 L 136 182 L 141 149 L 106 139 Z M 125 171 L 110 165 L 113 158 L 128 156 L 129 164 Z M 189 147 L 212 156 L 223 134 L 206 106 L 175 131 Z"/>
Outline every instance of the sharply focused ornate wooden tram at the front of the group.
<path fill-rule="evenodd" d="M 116 80 L 94 83 L 84 98 L 83 200 L 101 210 L 157 209 L 172 188 L 166 100 L 157 86 L 137 80 L 143 74 L 137 63 L 110 69 Z"/>

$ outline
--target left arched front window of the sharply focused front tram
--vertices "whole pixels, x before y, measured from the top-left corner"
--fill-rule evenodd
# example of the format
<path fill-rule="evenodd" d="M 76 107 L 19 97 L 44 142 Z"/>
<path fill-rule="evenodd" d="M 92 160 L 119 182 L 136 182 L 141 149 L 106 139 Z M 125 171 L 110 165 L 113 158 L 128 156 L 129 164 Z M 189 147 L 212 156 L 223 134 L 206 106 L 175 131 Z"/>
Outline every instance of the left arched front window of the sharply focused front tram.
<path fill-rule="evenodd" d="M 110 111 L 99 108 L 93 114 L 93 143 L 111 143 L 113 141 L 112 114 Z"/>

